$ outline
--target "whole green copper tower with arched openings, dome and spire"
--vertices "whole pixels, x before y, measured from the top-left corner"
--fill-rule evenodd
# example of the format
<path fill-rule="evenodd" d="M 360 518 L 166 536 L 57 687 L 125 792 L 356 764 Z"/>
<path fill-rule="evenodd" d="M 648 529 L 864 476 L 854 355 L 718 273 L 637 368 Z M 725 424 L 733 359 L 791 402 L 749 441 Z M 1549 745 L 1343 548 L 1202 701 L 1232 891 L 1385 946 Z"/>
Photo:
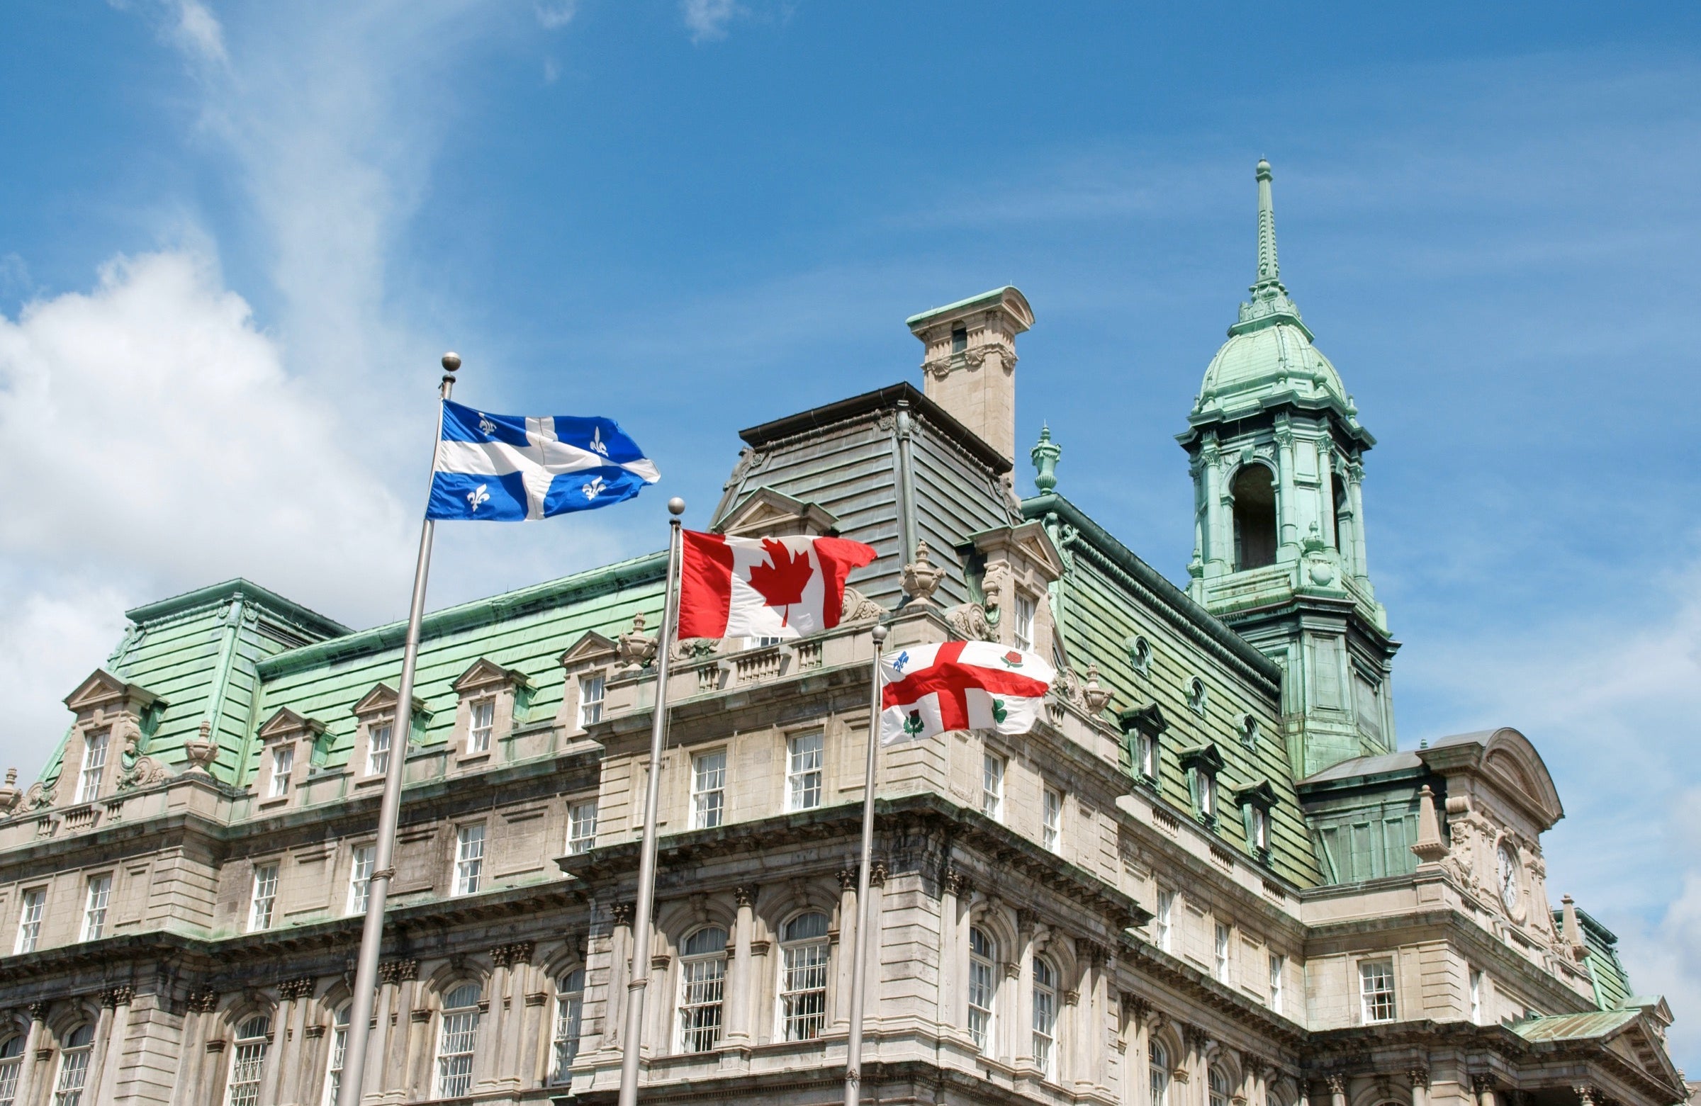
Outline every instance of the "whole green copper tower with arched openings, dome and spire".
<path fill-rule="evenodd" d="M 1305 776 L 1393 749 L 1398 645 L 1364 541 L 1363 459 L 1376 439 L 1283 284 L 1269 162 L 1254 179 L 1250 296 L 1179 436 L 1194 483 L 1187 575 L 1199 604 L 1283 665 L 1289 754 Z"/>

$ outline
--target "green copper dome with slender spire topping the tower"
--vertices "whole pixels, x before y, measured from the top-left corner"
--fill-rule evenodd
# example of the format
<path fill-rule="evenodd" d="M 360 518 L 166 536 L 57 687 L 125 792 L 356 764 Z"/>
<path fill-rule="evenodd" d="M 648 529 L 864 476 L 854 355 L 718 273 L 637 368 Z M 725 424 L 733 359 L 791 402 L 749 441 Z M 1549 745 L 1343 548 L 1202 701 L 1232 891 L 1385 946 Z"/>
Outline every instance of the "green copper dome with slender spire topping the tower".
<path fill-rule="evenodd" d="M 1271 204 L 1271 163 L 1259 162 L 1259 276 L 1240 320 L 1211 357 L 1192 413 L 1228 415 L 1271 402 L 1300 400 L 1335 407 L 1352 422 L 1357 410 L 1328 357 L 1311 345 L 1311 330 L 1281 282 L 1276 259 L 1276 211 Z"/>

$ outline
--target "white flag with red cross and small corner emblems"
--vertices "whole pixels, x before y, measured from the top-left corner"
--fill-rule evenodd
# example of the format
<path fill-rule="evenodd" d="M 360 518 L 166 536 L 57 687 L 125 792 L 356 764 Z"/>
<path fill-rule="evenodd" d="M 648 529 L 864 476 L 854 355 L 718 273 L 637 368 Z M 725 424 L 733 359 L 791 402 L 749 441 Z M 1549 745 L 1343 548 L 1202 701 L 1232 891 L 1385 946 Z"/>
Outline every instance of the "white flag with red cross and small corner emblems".
<path fill-rule="evenodd" d="M 1039 657 L 993 641 L 912 645 L 881 665 L 881 745 L 951 730 L 1027 733 L 1056 677 Z"/>

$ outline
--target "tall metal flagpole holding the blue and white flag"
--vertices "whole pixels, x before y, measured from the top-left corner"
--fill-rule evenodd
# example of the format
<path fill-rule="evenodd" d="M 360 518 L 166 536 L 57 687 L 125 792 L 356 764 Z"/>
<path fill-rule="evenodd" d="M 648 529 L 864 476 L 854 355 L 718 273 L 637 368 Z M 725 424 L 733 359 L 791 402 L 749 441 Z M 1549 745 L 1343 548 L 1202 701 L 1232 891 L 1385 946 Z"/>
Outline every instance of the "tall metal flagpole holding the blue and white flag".
<path fill-rule="evenodd" d="M 456 354 L 442 356 L 442 383 L 439 400 L 447 400 L 454 390 L 454 371 L 461 368 Z M 442 403 L 437 403 L 437 441 L 432 442 L 432 471 L 437 471 L 437 449 L 442 442 Z M 390 897 L 390 880 L 396 875 L 396 818 L 401 813 L 401 778 L 407 772 L 408 733 L 413 725 L 413 667 L 420 653 L 420 619 L 425 614 L 425 577 L 430 572 L 432 519 L 425 517 L 420 529 L 420 556 L 413 565 L 413 606 L 408 607 L 408 636 L 401 648 L 401 687 L 396 694 L 396 718 L 390 732 L 390 764 L 384 769 L 384 801 L 378 808 L 378 844 L 373 849 L 373 875 L 366 883 L 366 926 L 361 929 L 361 958 L 354 970 L 354 1007 L 349 1012 L 349 1036 L 342 1057 L 342 1086 L 337 1089 L 337 1106 L 359 1106 L 361 1084 L 366 1082 L 366 1045 L 371 1036 L 373 997 L 378 990 L 378 955 L 384 941 L 384 900 Z"/>

